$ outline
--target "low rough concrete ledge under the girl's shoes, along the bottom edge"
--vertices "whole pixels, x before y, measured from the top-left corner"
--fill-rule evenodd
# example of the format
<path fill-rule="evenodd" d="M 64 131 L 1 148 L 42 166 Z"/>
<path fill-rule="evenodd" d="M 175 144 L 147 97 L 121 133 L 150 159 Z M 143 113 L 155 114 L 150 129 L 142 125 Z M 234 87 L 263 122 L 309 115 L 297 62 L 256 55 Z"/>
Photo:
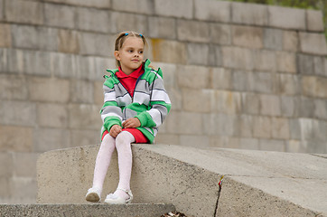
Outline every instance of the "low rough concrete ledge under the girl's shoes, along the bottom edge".
<path fill-rule="evenodd" d="M 0 204 L 0 216 L 154 217 L 173 212 L 172 204 Z"/>

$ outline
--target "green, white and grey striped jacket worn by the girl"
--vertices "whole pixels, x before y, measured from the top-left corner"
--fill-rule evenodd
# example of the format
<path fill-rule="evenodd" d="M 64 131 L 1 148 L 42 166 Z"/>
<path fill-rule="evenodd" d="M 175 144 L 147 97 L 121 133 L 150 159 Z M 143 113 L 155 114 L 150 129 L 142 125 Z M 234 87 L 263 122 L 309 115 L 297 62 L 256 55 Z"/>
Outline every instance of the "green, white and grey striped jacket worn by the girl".
<path fill-rule="evenodd" d="M 134 96 L 117 79 L 117 69 L 107 70 L 111 75 L 104 76 L 105 103 L 100 110 L 103 121 L 101 134 L 105 130 L 109 131 L 113 125 L 122 126 L 126 119 L 135 117 L 141 123 L 137 129 L 150 143 L 154 143 L 158 128 L 163 124 L 172 104 L 163 87 L 163 71 L 154 71 L 149 64 L 150 61 L 146 60 L 145 72 L 136 81 Z"/>

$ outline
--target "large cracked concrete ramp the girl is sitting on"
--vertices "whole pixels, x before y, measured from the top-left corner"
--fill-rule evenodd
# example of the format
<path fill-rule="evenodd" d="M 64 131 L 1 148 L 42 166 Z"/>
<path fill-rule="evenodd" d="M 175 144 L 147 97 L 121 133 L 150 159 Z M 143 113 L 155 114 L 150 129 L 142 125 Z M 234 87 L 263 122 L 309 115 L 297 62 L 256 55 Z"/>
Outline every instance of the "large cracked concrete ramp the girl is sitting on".
<path fill-rule="evenodd" d="M 98 147 L 42 154 L 38 203 L 86 203 Z M 133 155 L 134 203 L 173 203 L 197 217 L 327 216 L 324 155 L 160 144 L 133 145 Z M 104 193 L 116 189 L 117 175 L 115 155 Z"/>

